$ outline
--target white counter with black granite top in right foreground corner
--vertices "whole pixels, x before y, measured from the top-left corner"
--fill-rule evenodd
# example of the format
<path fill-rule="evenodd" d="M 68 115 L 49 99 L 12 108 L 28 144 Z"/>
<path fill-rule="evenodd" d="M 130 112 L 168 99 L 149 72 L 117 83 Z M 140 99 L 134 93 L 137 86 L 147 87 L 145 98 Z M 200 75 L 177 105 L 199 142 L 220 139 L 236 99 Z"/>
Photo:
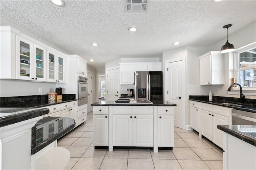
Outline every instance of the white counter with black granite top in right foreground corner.
<path fill-rule="evenodd" d="M 256 169 L 256 126 L 218 125 L 224 131 L 223 169 Z"/>

